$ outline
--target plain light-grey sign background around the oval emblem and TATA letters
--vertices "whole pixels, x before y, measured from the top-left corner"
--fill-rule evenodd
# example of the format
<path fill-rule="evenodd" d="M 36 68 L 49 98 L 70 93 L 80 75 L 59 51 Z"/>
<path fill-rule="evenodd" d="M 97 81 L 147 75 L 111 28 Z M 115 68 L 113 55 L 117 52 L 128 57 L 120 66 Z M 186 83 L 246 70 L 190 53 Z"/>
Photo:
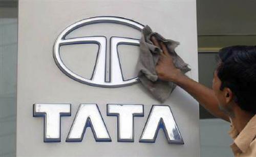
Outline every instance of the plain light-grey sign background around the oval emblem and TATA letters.
<path fill-rule="evenodd" d="M 199 156 L 198 103 L 181 88 L 177 87 L 163 105 L 171 106 L 185 144 L 167 144 L 163 131 L 159 131 L 156 143 L 139 143 L 152 104 L 161 104 L 140 83 L 94 87 L 70 79 L 57 68 L 52 52 L 57 35 L 78 20 L 102 15 L 130 18 L 180 41 L 177 52 L 192 68 L 188 76 L 198 80 L 196 1 L 19 1 L 17 155 Z M 102 30 L 95 35 L 102 32 L 115 33 Z M 43 142 L 43 120 L 32 117 L 33 103 L 40 102 L 72 104 L 72 116 L 61 120 L 60 143 Z M 65 142 L 79 103 L 98 104 L 111 143 L 95 142 L 90 129 L 81 143 Z M 117 121 L 106 116 L 107 103 L 144 104 L 145 116 L 135 118 L 134 143 L 117 142 Z"/>

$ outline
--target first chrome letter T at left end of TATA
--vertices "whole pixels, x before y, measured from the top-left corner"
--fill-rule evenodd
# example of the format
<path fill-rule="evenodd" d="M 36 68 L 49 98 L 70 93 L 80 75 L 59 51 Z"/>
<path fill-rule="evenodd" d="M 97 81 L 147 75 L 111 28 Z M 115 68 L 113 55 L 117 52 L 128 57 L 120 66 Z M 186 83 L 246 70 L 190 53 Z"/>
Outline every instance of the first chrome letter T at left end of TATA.
<path fill-rule="evenodd" d="M 71 104 L 33 105 L 33 117 L 44 117 L 44 142 L 60 142 L 61 116 L 71 116 Z"/>

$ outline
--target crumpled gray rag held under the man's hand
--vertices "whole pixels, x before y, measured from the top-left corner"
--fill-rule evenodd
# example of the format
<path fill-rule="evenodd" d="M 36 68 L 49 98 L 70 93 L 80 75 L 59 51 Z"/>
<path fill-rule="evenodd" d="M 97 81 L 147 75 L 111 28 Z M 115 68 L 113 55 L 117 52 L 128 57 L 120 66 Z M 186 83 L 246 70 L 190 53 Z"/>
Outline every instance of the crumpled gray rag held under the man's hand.
<path fill-rule="evenodd" d="M 139 60 L 137 63 L 138 77 L 141 83 L 157 100 L 164 102 L 173 92 L 176 84 L 158 79 L 156 64 L 162 50 L 156 47 L 150 40 L 152 35 L 154 35 L 158 41 L 161 40 L 165 43 L 168 52 L 173 57 L 176 68 L 180 69 L 183 74 L 190 71 L 190 68 L 188 68 L 188 64 L 185 63 L 174 50 L 180 44 L 178 41 L 165 39 L 160 34 L 152 32 L 151 28 L 148 26 L 143 28 L 140 40 Z"/>

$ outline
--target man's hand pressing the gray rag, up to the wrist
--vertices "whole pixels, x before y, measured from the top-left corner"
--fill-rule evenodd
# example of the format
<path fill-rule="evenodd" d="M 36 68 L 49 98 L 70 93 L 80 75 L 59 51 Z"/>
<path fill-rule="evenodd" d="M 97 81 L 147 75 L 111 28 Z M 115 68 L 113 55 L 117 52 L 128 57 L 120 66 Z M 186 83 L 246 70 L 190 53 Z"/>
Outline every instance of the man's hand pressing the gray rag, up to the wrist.
<path fill-rule="evenodd" d="M 151 37 L 151 41 L 162 50 L 156 65 L 158 78 L 165 81 L 176 82 L 183 74 L 175 67 L 173 58 L 170 56 L 165 44 L 162 41 L 159 43 L 154 36 Z"/>

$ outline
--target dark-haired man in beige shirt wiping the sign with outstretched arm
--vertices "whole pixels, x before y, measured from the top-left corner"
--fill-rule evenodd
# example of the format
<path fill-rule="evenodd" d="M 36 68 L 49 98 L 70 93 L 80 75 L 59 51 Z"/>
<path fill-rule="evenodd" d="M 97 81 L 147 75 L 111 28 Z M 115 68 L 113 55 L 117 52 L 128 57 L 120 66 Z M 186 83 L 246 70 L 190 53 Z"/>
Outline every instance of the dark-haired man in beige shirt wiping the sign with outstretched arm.
<path fill-rule="evenodd" d="M 256 46 L 233 46 L 219 52 L 212 89 L 188 78 L 177 69 L 166 46 L 151 38 L 162 49 L 156 72 L 159 79 L 172 81 L 193 96 L 218 118 L 231 123 L 230 145 L 235 156 L 256 156 Z"/>

